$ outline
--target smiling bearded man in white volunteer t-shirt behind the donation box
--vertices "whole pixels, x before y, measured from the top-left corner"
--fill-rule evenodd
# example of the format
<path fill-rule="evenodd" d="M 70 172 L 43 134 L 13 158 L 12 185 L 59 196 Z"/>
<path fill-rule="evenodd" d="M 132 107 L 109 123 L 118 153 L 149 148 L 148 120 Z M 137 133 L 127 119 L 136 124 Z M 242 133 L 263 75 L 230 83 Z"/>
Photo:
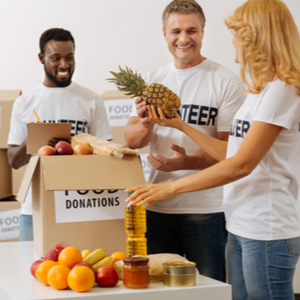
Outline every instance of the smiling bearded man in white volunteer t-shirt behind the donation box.
<path fill-rule="evenodd" d="M 112 134 L 103 100 L 95 92 L 72 82 L 75 41 L 61 28 L 46 30 L 40 38 L 39 60 L 45 79 L 14 103 L 8 137 L 8 160 L 18 169 L 26 165 L 27 124 L 37 122 L 33 109 L 45 123 L 72 123 L 71 137 L 87 132 L 104 140 Z M 53 144 L 52 144 L 53 145 Z M 31 188 L 21 208 L 20 241 L 33 240 Z"/>

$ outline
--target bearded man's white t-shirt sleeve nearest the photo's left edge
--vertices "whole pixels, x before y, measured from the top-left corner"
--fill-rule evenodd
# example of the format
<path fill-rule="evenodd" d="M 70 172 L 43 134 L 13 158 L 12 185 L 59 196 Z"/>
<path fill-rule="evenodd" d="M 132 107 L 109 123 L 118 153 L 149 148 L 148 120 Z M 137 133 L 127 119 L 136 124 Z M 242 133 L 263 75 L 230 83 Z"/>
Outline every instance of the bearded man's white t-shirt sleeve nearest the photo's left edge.
<path fill-rule="evenodd" d="M 13 104 L 10 131 L 8 135 L 8 145 L 21 145 L 27 138 L 27 124 L 22 119 L 22 96 Z"/>

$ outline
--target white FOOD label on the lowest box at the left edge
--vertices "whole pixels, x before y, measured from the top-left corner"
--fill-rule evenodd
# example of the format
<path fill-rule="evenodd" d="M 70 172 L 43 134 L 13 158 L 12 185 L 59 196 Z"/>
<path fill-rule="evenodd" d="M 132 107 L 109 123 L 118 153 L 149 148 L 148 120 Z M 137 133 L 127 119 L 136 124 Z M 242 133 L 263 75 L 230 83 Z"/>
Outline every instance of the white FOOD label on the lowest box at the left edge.
<path fill-rule="evenodd" d="M 19 237 L 20 209 L 0 212 L 0 241 Z"/>

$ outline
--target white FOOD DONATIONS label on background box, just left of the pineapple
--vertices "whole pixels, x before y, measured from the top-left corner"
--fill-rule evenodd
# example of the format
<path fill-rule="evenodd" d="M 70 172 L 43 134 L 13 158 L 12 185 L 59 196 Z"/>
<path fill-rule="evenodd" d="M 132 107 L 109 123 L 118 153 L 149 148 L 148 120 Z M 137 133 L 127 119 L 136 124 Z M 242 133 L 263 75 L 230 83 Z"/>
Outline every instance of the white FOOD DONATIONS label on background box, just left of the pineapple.
<path fill-rule="evenodd" d="M 104 105 L 111 127 L 125 126 L 132 111 L 133 99 L 105 100 Z"/>

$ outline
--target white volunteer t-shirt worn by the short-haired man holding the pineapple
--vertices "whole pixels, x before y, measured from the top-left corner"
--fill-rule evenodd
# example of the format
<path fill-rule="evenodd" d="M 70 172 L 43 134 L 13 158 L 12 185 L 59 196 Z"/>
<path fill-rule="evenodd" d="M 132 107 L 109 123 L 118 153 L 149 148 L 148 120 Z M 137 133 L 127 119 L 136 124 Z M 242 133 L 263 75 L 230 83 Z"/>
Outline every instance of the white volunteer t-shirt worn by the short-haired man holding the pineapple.
<path fill-rule="evenodd" d="M 175 92 L 181 99 L 182 119 L 198 130 L 217 137 L 218 131 L 229 131 L 233 116 L 243 103 L 245 95 L 239 77 L 223 66 L 206 59 L 189 69 L 176 69 L 172 64 L 148 73 L 145 81 L 161 83 Z M 137 116 L 135 105 L 131 116 Z M 170 143 L 186 149 L 188 155 L 202 149 L 187 135 L 177 129 L 154 126 L 150 141 L 150 153 L 173 157 Z M 180 170 L 162 172 L 150 168 L 149 182 L 164 183 L 194 174 L 199 171 Z M 148 210 L 162 213 L 215 213 L 223 211 L 222 187 L 175 195 L 164 201 L 157 201 Z"/>

